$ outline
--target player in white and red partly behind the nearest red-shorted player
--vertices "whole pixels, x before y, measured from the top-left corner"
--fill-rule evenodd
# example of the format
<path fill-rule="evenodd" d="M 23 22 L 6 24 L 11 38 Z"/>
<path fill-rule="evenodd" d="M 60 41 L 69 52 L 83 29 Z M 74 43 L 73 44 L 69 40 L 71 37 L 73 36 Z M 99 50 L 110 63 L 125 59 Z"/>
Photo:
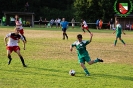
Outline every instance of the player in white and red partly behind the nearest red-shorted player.
<path fill-rule="evenodd" d="M 22 21 L 19 19 L 18 15 L 15 15 L 15 23 L 16 23 L 17 30 L 24 37 L 24 40 L 27 42 L 26 37 L 24 36 L 24 30 L 23 30 L 23 26 L 22 26 Z"/>

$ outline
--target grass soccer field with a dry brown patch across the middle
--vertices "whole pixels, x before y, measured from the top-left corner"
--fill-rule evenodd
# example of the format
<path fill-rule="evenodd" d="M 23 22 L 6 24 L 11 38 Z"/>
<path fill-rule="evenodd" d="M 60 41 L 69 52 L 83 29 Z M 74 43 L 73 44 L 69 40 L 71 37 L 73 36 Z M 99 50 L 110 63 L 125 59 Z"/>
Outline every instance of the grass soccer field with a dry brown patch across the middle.
<path fill-rule="evenodd" d="M 0 27 L 0 88 L 132 88 L 133 87 L 133 32 L 125 31 L 116 47 L 113 46 L 115 34 L 112 30 L 96 30 L 93 40 L 87 46 L 91 59 L 97 57 L 103 63 L 88 65 L 91 76 L 86 77 L 77 61 L 76 49 L 71 53 L 70 45 L 76 41 L 77 34 L 84 40 L 90 38 L 80 28 L 68 28 L 68 40 L 62 40 L 61 29 L 24 28 L 27 38 L 26 50 L 22 41 L 19 45 L 27 68 L 24 68 L 16 53 L 12 53 L 12 63 L 7 65 L 4 37 L 13 32 L 13 27 Z M 68 74 L 70 69 L 75 76 Z"/>

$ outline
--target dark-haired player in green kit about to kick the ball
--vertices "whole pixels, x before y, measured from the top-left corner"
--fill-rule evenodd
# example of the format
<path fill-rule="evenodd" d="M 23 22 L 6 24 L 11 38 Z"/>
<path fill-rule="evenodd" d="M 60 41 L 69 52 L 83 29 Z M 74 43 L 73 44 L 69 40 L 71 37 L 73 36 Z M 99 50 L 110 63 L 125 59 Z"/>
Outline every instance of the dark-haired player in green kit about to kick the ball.
<path fill-rule="evenodd" d="M 90 40 L 86 41 L 86 40 L 82 40 L 81 34 L 78 34 L 77 35 L 77 41 L 75 41 L 70 46 L 70 51 L 73 51 L 73 47 L 76 47 L 77 54 L 78 54 L 78 61 L 80 63 L 80 66 L 84 69 L 86 76 L 89 76 L 90 73 L 85 66 L 85 62 L 87 62 L 89 65 L 97 63 L 97 62 L 103 62 L 103 60 L 99 59 L 99 58 L 96 58 L 95 60 L 91 60 L 89 53 L 86 50 L 86 45 L 88 45 L 92 41 L 92 36 L 93 36 L 93 34 L 91 34 Z"/>

